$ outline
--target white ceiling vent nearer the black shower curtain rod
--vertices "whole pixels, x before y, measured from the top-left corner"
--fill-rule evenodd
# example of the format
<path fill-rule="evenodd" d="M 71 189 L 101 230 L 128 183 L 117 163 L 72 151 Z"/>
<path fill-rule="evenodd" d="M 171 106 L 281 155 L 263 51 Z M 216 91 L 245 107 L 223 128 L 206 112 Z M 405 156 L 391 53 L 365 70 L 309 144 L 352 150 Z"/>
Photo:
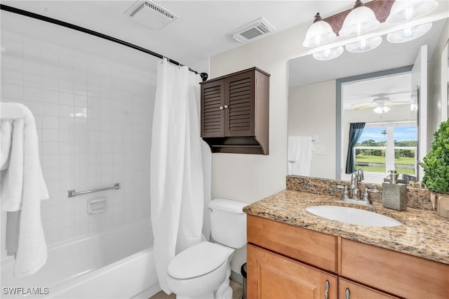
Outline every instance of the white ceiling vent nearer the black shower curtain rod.
<path fill-rule="evenodd" d="M 138 1 L 130 11 L 131 20 L 156 30 L 162 29 L 178 18 L 175 13 L 153 1 L 143 3 Z"/>

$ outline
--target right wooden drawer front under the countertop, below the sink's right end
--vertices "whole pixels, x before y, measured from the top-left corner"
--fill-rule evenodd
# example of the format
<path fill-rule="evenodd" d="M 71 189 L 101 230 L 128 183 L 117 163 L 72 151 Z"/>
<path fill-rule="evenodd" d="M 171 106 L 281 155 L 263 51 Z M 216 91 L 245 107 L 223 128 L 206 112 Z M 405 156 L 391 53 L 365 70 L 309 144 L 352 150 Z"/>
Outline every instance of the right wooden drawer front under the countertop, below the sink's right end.
<path fill-rule="evenodd" d="M 341 275 L 404 298 L 449 298 L 449 265 L 342 239 Z"/>

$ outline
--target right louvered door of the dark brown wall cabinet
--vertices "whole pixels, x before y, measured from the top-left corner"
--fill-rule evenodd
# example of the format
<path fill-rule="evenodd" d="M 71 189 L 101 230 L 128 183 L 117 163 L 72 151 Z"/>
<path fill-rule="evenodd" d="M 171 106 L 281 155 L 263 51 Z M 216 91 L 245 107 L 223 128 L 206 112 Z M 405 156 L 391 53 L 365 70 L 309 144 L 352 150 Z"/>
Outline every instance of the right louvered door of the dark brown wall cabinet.
<path fill-rule="evenodd" d="M 253 136 L 255 74 L 245 72 L 227 79 L 225 136 Z"/>

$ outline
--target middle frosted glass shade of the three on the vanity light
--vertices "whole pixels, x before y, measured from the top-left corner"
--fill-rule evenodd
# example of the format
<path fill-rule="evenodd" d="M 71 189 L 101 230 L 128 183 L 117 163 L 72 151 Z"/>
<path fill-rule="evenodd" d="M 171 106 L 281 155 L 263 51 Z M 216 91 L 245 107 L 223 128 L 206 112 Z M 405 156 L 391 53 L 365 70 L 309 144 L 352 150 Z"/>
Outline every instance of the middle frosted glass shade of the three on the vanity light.
<path fill-rule="evenodd" d="M 338 34 L 340 36 L 359 36 L 373 31 L 380 25 L 374 11 L 371 8 L 363 6 L 360 0 L 352 11 L 344 18 L 342 29 Z"/>

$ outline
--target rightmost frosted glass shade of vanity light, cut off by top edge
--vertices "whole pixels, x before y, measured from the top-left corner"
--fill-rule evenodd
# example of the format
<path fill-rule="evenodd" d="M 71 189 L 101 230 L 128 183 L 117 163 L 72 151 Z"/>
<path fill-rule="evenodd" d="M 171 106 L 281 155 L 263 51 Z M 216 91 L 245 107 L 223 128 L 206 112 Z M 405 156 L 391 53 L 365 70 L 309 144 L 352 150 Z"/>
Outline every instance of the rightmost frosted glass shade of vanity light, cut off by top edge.
<path fill-rule="evenodd" d="M 423 15 L 427 15 L 437 6 L 438 2 L 435 0 L 396 0 L 385 21 L 390 24 L 398 24 L 415 20 Z"/>

